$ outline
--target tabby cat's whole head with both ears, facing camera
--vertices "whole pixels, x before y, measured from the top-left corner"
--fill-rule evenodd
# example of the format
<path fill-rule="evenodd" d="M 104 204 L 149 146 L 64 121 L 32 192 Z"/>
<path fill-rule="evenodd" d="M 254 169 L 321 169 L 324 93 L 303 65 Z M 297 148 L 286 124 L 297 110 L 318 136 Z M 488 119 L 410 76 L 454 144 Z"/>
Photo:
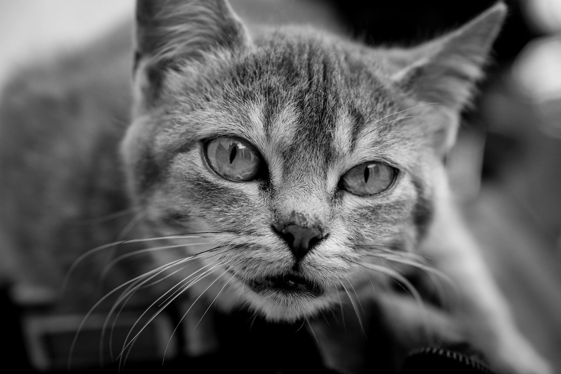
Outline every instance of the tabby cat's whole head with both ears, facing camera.
<path fill-rule="evenodd" d="M 416 248 L 504 15 L 370 48 L 288 25 L 249 35 L 224 0 L 139 1 L 131 196 L 159 235 L 213 233 L 159 264 L 186 258 L 211 299 L 295 320 L 374 276 L 374 256 Z"/>

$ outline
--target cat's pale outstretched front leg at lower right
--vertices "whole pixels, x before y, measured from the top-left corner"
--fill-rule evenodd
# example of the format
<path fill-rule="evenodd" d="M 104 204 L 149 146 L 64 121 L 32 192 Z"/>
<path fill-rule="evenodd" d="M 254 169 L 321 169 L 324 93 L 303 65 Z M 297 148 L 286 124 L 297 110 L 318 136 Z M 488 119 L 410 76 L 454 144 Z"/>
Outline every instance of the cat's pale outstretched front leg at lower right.
<path fill-rule="evenodd" d="M 550 374 L 551 368 L 517 330 L 511 311 L 453 205 L 443 199 L 424 255 L 452 280 L 450 314 L 501 373 Z"/>

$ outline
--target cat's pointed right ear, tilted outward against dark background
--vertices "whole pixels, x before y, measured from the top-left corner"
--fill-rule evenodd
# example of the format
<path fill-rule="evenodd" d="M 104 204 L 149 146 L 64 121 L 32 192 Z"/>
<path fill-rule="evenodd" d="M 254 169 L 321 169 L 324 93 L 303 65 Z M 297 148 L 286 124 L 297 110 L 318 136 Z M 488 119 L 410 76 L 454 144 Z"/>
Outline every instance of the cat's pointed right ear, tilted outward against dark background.
<path fill-rule="evenodd" d="M 398 60 L 402 66 L 392 81 L 421 101 L 461 110 L 482 76 L 506 13 L 499 2 L 452 33 L 409 50 L 389 50 L 389 61 Z"/>

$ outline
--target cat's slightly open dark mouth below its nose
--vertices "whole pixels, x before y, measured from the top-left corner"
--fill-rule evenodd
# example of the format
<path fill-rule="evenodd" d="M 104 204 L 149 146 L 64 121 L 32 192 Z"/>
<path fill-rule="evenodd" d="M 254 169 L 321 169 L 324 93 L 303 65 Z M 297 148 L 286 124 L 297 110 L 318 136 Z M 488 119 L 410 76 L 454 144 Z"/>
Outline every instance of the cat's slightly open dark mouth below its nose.
<path fill-rule="evenodd" d="M 318 284 L 305 279 L 300 273 L 272 276 L 259 281 L 248 281 L 247 284 L 255 292 L 275 290 L 283 293 L 306 293 L 318 297 L 322 290 Z"/>

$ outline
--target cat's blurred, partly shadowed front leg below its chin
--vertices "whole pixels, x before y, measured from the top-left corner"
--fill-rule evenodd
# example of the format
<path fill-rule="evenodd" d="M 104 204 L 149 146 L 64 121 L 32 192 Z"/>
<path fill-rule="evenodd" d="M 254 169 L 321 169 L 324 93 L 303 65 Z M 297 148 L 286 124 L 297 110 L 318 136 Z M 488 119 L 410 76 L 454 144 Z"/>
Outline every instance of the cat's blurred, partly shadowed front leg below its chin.
<path fill-rule="evenodd" d="M 335 371 L 397 373 L 413 349 L 465 343 L 454 321 L 429 304 L 373 293 L 369 280 L 353 288 L 357 298 L 342 294 L 341 307 L 310 320 L 324 364 Z"/>

